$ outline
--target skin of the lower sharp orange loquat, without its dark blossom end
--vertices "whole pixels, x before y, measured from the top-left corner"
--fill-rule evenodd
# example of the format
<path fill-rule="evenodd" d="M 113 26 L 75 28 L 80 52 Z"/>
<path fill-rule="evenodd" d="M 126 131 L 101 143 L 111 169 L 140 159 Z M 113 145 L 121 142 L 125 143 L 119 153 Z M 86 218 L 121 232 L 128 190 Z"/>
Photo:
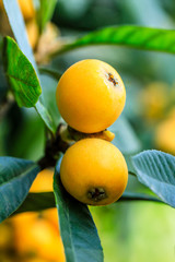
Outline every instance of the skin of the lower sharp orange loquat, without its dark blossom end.
<path fill-rule="evenodd" d="M 60 167 L 66 190 L 77 200 L 90 205 L 107 205 L 122 194 L 128 169 L 120 151 L 101 139 L 84 139 L 68 148 Z M 104 189 L 106 198 L 94 201 L 91 189 Z"/>

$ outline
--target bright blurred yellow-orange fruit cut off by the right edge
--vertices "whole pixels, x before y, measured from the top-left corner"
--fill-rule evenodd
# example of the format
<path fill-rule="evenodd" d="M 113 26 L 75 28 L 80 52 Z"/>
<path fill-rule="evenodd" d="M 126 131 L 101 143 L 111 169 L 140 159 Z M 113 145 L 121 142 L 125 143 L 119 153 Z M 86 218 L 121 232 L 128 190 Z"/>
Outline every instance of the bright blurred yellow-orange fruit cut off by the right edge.
<path fill-rule="evenodd" d="M 160 150 L 175 155 L 175 108 L 158 126 L 155 130 L 155 144 Z"/>

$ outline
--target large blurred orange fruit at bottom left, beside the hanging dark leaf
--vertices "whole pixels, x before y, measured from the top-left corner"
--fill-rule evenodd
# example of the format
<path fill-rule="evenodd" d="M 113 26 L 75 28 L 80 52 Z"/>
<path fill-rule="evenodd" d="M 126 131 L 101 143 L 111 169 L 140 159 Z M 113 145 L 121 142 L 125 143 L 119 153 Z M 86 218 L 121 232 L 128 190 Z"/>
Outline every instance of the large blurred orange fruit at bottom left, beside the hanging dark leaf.
<path fill-rule="evenodd" d="M 22 217 L 20 217 L 22 216 Z M 27 217 L 28 216 L 28 217 Z M 19 215 L 14 224 L 15 249 L 23 255 L 37 255 L 52 261 L 65 261 L 62 241 L 59 231 L 44 217 L 31 222 L 31 214 Z"/>

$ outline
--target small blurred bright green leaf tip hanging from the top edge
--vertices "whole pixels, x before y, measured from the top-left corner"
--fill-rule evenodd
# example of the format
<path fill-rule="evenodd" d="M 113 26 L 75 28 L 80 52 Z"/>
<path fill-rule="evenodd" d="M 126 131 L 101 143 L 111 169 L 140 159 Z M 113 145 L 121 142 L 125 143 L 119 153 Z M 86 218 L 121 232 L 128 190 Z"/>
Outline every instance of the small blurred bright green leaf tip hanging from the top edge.
<path fill-rule="evenodd" d="M 37 12 L 37 21 L 39 25 L 39 32 L 42 33 L 47 22 L 51 19 L 57 0 L 39 0 L 39 9 Z"/>

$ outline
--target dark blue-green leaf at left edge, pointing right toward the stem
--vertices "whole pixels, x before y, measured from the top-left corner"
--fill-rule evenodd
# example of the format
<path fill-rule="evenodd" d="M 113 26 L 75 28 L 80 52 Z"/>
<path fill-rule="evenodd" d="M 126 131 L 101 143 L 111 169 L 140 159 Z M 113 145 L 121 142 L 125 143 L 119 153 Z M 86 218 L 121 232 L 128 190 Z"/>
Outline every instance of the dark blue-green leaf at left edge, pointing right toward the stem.
<path fill-rule="evenodd" d="M 0 222 L 22 204 L 38 171 L 33 162 L 0 157 Z"/>

